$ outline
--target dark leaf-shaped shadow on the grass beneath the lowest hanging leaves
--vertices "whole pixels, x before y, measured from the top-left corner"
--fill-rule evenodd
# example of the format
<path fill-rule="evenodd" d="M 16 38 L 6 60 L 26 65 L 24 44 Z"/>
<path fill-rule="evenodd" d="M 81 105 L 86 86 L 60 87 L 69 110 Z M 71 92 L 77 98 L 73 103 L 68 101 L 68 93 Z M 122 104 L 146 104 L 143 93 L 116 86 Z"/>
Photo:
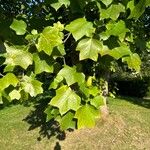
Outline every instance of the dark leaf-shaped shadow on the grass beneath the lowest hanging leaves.
<path fill-rule="evenodd" d="M 50 139 L 51 137 L 56 137 L 58 140 L 64 140 L 66 135 L 65 132 L 60 131 L 58 123 L 54 120 L 46 122 L 46 114 L 44 110 L 46 109 L 50 98 L 41 98 L 34 102 L 34 110 L 32 110 L 23 121 L 27 122 L 30 127 L 29 131 L 39 128 L 38 141 L 43 138 Z M 55 150 L 60 150 L 61 147 L 59 142 L 56 142 Z"/>

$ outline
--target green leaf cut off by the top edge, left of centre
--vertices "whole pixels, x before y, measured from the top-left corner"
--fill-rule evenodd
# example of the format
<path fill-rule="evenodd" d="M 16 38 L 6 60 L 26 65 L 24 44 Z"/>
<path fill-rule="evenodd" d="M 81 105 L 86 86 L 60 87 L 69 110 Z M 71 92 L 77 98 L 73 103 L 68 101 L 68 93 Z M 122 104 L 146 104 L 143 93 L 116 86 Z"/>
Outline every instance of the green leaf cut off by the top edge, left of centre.
<path fill-rule="evenodd" d="M 57 11 L 62 5 L 68 7 L 70 5 L 69 0 L 58 0 L 57 3 L 52 3 L 51 6 Z"/>

